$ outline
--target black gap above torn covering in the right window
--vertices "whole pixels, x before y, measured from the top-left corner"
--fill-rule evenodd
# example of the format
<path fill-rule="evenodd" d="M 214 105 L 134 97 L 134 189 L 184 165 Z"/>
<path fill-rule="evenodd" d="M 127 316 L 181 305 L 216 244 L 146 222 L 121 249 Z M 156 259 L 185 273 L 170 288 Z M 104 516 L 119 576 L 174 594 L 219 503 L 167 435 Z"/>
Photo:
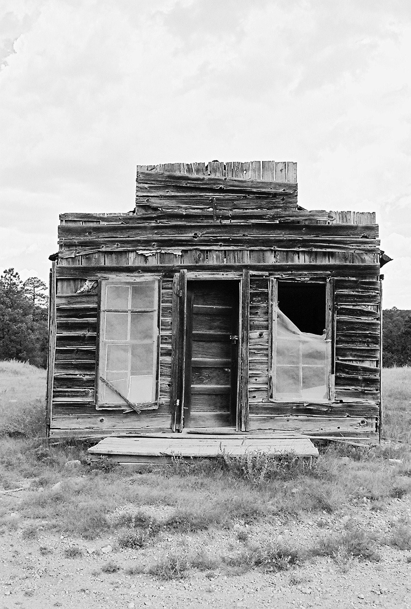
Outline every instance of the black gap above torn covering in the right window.
<path fill-rule="evenodd" d="M 325 283 L 278 281 L 278 308 L 302 332 L 322 334 L 326 325 Z"/>

